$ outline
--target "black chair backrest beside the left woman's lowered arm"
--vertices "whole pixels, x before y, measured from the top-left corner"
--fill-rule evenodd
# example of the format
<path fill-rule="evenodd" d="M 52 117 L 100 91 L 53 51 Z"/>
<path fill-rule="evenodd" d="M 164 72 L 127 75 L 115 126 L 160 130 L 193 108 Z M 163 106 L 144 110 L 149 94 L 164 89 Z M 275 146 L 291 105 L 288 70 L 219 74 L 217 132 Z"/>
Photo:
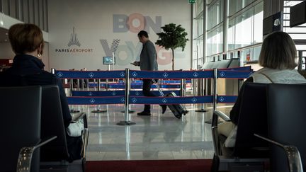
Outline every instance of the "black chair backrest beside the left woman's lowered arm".
<path fill-rule="evenodd" d="M 40 149 L 40 161 L 62 161 L 69 159 L 60 92 L 57 85 L 42 86 L 41 122 L 41 137 L 57 136 L 57 139 Z"/>

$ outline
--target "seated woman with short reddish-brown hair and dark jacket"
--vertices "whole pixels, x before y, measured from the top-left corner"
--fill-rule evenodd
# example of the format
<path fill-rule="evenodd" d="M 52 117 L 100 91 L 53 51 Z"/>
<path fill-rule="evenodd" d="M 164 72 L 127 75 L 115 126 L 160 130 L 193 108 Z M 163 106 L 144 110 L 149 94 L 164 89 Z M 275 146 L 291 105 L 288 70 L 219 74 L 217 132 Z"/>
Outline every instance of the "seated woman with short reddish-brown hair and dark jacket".
<path fill-rule="evenodd" d="M 18 23 L 8 30 L 8 38 L 16 56 L 13 66 L 0 73 L 0 86 L 31 86 L 56 84 L 60 90 L 64 127 L 69 127 L 72 115 L 69 113 L 67 98 L 62 82 L 54 74 L 43 70 L 45 64 L 40 59 L 44 47 L 42 31 L 37 25 Z M 81 136 L 69 137 L 67 146 L 71 161 L 81 154 Z"/>

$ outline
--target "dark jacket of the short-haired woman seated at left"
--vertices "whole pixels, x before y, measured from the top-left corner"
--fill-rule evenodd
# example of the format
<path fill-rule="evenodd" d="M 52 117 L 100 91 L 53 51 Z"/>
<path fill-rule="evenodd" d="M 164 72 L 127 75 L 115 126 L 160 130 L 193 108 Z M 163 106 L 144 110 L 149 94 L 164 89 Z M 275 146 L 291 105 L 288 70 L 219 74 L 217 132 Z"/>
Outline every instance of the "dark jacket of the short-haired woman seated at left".
<path fill-rule="evenodd" d="M 54 74 L 43 70 L 45 64 L 31 55 L 16 55 L 13 66 L 0 73 L 0 86 L 33 86 L 57 84 L 60 90 L 64 126 L 68 127 L 72 120 L 69 113 L 67 97 L 62 87 L 62 81 Z M 30 99 L 30 98 L 29 98 Z"/>

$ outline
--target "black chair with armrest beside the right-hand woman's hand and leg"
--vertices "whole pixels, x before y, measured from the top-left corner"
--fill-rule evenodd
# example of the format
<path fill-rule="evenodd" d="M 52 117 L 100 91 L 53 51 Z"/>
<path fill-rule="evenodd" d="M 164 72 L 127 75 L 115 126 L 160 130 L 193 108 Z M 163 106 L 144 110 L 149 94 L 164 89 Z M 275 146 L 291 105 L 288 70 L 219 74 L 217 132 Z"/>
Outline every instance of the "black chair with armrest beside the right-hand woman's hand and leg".
<path fill-rule="evenodd" d="M 230 121 L 220 111 L 212 115 L 212 141 L 215 154 L 211 171 L 263 171 L 268 162 L 268 143 L 254 136 L 266 136 L 266 87 L 267 84 L 246 82 L 239 91 L 242 103 L 239 109 L 236 143 L 233 148 L 224 147 L 226 137 L 217 131 L 218 119 Z"/>

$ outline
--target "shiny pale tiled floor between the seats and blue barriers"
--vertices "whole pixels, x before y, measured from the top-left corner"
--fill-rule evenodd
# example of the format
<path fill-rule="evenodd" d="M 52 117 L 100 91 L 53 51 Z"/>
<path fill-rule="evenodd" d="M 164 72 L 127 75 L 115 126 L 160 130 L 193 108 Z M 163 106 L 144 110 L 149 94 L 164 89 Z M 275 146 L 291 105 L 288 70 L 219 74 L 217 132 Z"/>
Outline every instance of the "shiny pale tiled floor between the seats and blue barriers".
<path fill-rule="evenodd" d="M 206 105 L 205 105 L 206 106 Z M 159 105 L 152 105 L 151 116 L 137 116 L 143 105 L 131 105 L 130 121 L 135 125 L 117 125 L 125 121 L 123 105 L 74 106 L 89 117 L 89 146 L 86 159 L 154 160 L 212 159 L 210 124 L 212 109 L 196 112 L 201 105 L 186 105 L 189 113 L 177 119 L 167 108 L 162 114 Z M 106 110 L 92 113 L 92 110 Z M 230 108 L 229 108 L 230 109 Z M 225 108 L 225 111 L 227 108 Z"/>

